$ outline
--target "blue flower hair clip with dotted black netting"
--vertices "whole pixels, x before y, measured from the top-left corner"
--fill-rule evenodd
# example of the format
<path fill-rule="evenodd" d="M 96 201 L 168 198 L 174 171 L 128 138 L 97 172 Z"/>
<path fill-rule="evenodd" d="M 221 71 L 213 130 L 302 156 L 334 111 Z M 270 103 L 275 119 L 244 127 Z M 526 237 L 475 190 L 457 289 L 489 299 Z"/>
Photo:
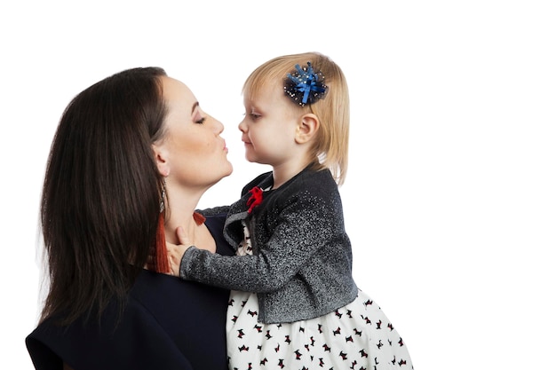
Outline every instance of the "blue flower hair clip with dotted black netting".
<path fill-rule="evenodd" d="M 296 64 L 296 70 L 284 80 L 284 92 L 299 106 L 313 104 L 324 98 L 327 91 L 322 72 L 314 72 L 311 62 L 307 62 L 303 68 Z"/>

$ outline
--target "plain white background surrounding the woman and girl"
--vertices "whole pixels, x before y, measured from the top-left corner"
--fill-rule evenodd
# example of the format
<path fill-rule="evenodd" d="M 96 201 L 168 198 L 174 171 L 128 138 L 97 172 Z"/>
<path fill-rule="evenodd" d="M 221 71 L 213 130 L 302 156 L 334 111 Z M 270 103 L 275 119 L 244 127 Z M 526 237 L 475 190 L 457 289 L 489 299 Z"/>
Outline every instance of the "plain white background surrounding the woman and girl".
<path fill-rule="evenodd" d="M 321 51 L 351 91 L 353 274 L 416 368 L 556 369 L 552 4 L 3 2 L 0 367 L 32 368 L 39 196 L 76 93 L 129 67 L 187 83 L 225 124 L 234 163 L 200 204 L 213 206 L 266 170 L 243 158 L 243 80 L 275 56 Z"/>

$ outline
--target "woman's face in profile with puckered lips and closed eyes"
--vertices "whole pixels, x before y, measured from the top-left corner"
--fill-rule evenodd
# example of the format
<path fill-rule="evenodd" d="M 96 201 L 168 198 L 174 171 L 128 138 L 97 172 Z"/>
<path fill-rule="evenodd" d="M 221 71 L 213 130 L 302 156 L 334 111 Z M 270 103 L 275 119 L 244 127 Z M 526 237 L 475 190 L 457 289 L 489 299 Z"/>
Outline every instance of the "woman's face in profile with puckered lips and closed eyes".
<path fill-rule="evenodd" d="M 168 106 L 159 169 L 179 185 L 204 189 L 232 173 L 224 126 L 203 112 L 193 92 L 184 83 L 163 77 L 163 97 Z M 161 169 L 162 168 L 162 169 Z"/>

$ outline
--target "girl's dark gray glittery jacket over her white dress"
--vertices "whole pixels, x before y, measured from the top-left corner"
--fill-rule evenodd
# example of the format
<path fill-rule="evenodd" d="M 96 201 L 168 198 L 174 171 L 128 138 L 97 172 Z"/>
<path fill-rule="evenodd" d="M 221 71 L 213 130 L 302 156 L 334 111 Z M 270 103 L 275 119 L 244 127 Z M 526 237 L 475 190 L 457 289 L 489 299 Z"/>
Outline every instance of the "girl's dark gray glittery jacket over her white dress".
<path fill-rule="evenodd" d="M 227 211 L 225 237 L 234 248 L 250 230 L 252 256 L 219 256 L 188 248 L 182 279 L 257 293 L 258 321 L 286 323 L 313 319 L 351 303 L 357 295 L 352 250 L 344 228 L 338 185 L 329 170 L 304 169 L 248 213 L 250 189 L 273 185 L 272 172 L 252 180 Z"/>

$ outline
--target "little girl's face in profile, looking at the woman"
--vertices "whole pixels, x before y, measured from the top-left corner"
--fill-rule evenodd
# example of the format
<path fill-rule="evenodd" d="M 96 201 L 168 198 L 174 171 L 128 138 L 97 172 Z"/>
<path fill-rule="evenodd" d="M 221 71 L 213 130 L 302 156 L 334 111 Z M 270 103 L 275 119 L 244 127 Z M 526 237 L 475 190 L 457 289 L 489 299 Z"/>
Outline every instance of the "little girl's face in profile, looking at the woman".
<path fill-rule="evenodd" d="M 280 166 L 295 151 L 299 113 L 284 95 L 282 85 L 266 85 L 257 96 L 243 98 L 245 118 L 239 124 L 248 161 Z"/>

